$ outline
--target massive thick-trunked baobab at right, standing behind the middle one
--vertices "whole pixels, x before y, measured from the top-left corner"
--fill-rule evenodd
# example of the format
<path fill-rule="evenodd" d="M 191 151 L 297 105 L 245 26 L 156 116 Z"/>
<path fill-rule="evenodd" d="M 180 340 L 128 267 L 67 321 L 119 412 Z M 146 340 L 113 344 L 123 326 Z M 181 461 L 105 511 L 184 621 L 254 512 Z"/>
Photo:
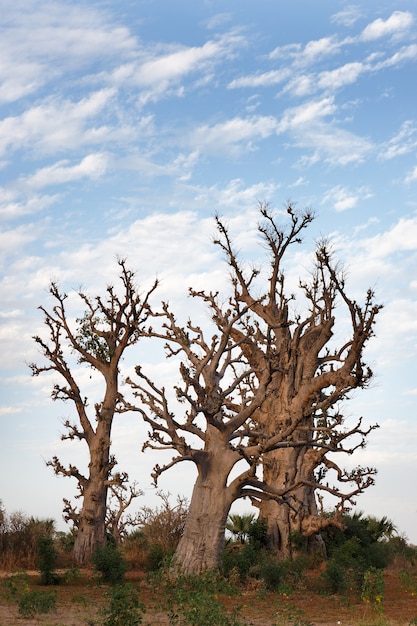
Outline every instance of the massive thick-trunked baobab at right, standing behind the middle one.
<path fill-rule="evenodd" d="M 246 336 L 239 328 L 232 334 L 241 342 L 248 362 L 259 371 L 259 377 L 268 360 L 274 363 L 264 402 L 254 419 L 270 435 L 290 431 L 291 441 L 297 442 L 296 446 L 278 448 L 263 459 L 263 478 L 268 485 L 279 490 L 298 485 L 287 491 L 286 506 L 263 496 L 253 499 L 260 508 L 261 518 L 267 521 L 271 545 L 282 556 L 289 557 L 293 531 L 310 537 L 311 545 L 317 547 L 321 528 L 341 524 L 347 499 L 340 491 L 343 483 L 356 484 L 354 491 L 357 489 L 359 493 L 373 484 L 372 470 L 346 472 L 336 463 L 334 455 L 330 457 L 329 451 L 352 454 L 365 445 L 367 435 L 376 427 L 364 429 L 361 419 L 348 425 L 341 403 L 352 390 L 365 388 L 372 378 L 371 369 L 363 362 L 363 352 L 373 335 L 381 307 L 374 303 L 371 290 L 366 293 L 363 305 L 348 297 L 343 271 L 333 262 L 326 242 L 320 242 L 309 280 L 299 283 L 305 312 L 297 314 L 295 307 L 291 308 L 296 298 L 286 290 L 283 259 L 291 246 L 301 242 L 302 231 L 313 220 L 313 214 L 296 212 L 289 204 L 289 224 L 284 227 L 277 225 L 267 206 L 260 206 L 260 214 L 259 233 L 270 265 L 262 296 L 259 291 L 253 293 L 257 270 L 245 274 L 228 229 L 219 218 L 216 243 L 231 269 L 234 299 L 251 310 L 257 328 L 252 336 Z M 337 307 L 338 318 L 344 318 L 348 326 L 340 345 L 335 345 L 333 340 Z M 354 443 L 345 447 L 344 442 L 352 439 Z M 323 515 L 317 506 L 317 496 L 320 498 L 324 478 L 328 479 L 329 474 L 339 483 L 332 494 L 336 497 L 332 516 Z M 330 488 L 326 491 L 332 493 Z M 354 495 L 348 492 L 348 500 L 352 501 Z"/>

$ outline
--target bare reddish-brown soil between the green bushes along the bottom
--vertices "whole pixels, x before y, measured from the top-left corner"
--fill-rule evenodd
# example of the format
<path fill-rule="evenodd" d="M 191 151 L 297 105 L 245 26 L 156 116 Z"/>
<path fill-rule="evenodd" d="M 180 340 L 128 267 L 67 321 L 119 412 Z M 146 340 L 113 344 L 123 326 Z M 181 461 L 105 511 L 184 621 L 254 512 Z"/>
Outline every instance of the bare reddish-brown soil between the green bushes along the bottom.
<path fill-rule="evenodd" d="M 0 576 L 4 579 L 9 574 Z M 379 613 L 357 596 L 325 596 L 315 590 L 318 573 L 310 572 L 299 589 L 289 594 L 262 592 L 259 588 L 244 589 L 240 597 L 221 597 L 227 609 L 240 605 L 240 618 L 253 626 L 409 626 L 417 624 L 417 595 L 401 586 L 398 570 L 384 573 L 385 592 L 382 611 Z M 30 572 L 30 585 L 38 584 L 38 575 Z M 141 573 L 129 573 L 127 582 L 139 588 L 141 602 L 146 607 L 143 624 L 169 626 L 166 614 L 157 608 L 157 599 Z M 98 609 L 105 602 L 108 588 L 98 584 L 88 570 L 71 582 L 57 587 L 57 610 L 37 619 L 19 616 L 14 602 L 0 596 L 0 626 L 100 626 Z M 212 626 L 216 626 L 213 624 Z"/>

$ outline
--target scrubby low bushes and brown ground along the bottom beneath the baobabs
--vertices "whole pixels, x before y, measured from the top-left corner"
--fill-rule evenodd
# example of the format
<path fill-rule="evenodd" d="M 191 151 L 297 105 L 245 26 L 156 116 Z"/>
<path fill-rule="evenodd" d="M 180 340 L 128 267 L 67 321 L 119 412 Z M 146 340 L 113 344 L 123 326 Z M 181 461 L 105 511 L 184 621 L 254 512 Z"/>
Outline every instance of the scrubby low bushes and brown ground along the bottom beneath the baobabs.
<path fill-rule="evenodd" d="M 328 527 L 327 557 L 294 535 L 293 558 L 282 560 L 268 546 L 265 522 L 234 515 L 221 570 L 194 575 L 172 558 L 186 502 L 172 505 L 165 495 L 162 503 L 142 511 L 142 524 L 120 545 L 109 535 L 89 570 L 71 564 L 71 533 L 2 511 L 1 626 L 417 623 L 417 549 L 386 518 L 353 514 L 344 531 Z"/>

